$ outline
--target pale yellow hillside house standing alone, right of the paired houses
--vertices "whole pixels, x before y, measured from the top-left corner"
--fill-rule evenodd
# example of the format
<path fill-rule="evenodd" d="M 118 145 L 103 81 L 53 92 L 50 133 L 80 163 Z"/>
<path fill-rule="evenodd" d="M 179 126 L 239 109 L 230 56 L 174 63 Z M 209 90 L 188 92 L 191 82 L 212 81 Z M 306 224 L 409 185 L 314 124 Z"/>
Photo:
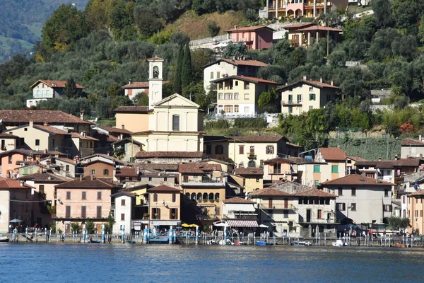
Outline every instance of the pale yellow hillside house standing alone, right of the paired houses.
<path fill-rule="evenodd" d="M 281 113 L 283 115 L 300 115 L 312 109 L 324 108 L 330 101 L 336 99 L 338 87 L 320 81 L 302 80 L 281 86 L 277 92 L 281 93 Z"/>

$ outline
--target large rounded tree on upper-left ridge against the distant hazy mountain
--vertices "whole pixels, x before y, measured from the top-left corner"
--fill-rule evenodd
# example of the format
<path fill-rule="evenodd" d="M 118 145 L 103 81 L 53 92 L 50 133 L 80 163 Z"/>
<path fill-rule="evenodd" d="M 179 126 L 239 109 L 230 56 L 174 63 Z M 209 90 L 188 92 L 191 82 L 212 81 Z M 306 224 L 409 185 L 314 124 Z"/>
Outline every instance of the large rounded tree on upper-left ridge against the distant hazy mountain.
<path fill-rule="evenodd" d="M 88 35 L 86 16 L 75 7 L 62 4 L 42 28 L 42 42 L 47 50 L 63 51 L 66 46 Z"/>

